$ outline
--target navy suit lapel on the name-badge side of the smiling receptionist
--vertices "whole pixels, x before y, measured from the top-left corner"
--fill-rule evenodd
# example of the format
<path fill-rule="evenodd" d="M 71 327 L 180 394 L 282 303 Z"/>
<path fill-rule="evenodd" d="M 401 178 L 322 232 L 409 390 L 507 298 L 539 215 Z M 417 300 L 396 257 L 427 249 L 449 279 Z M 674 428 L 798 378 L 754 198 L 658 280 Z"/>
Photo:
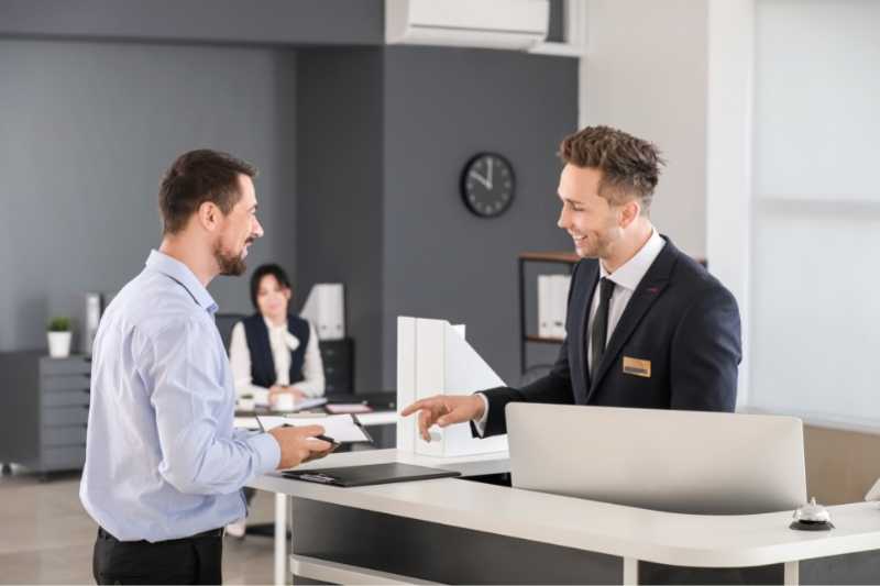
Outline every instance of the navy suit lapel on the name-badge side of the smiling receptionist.
<path fill-rule="evenodd" d="M 626 341 L 629 340 L 629 336 L 632 335 L 632 332 L 636 330 L 641 319 L 669 285 L 672 267 L 680 253 L 678 248 L 672 245 L 672 242 L 668 239 L 664 240 L 667 240 L 666 246 L 663 246 L 663 250 L 660 251 L 653 264 L 648 268 L 648 273 L 646 273 L 645 277 L 639 281 L 636 290 L 632 291 L 632 297 L 629 299 L 624 314 L 620 316 L 620 321 L 617 322 L 612 339 L 608 341 L 608 345 L 602 356 L 602 364 L 598 366 L 595 376 L 590 377 L 590 392 L 586 397 L 587 402 L 596 391 L 596 387 L 602 382 L 603 377 L 608 373 L 608 369 L 617 362 L 617 355 L 623 350 Z"/>

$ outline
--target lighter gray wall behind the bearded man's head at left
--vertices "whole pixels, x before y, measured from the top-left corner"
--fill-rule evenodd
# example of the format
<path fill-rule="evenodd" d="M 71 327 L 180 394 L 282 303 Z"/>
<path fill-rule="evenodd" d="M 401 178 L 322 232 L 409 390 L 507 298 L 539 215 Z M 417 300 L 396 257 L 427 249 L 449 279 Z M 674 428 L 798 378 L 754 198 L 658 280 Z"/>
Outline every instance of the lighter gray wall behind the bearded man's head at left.
<path fill-rule="evenodd" d="M 51 314 L 116 292 L 160 242 L 158 181 L 195 147 L 255 163 L 266 237 L 294 270 L 296 54 L 0 40 L 0 350 L 44 347 Z M 250 311 L 244 279 L 210 287 Z"/>

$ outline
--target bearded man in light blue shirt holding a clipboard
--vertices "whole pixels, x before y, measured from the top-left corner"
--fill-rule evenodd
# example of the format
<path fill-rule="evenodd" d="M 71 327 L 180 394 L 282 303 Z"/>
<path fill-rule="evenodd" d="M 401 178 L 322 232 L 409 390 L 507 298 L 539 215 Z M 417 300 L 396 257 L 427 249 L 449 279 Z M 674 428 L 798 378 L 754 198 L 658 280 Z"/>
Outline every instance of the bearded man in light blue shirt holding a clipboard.
<path fill-rule="evenodd" d="M 233 430 L 235 392 L 217 275 L 244 272 L 262 236 L 255 169 L 212 151 L 182 155 L 160 191 L 165 234 L 105 313 L 95 340 L 80 499 L 100 526 L 99 584 L 217 584 L 222 529 L 254 476 L 327 453 L 318 425 Z"/>

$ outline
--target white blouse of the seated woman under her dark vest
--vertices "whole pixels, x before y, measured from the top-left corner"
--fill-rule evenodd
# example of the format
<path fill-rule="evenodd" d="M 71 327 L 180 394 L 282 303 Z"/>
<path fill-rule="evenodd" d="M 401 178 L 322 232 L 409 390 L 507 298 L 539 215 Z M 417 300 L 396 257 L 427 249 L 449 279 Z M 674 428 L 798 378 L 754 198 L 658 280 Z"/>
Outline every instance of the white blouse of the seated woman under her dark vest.
<path fill-rule="evenodd" d="M 298 349 L 301 342 L 287 330 L 286 320 L 280 325 L 274 325 L 266 318 L 263 318 L 263 320 L 268 329 L 268 345 L 272 349 L 272 361 L 275 364 L 275 375 L 277 377 L 275 384 L 288 386 L 290 385 L 290 352 Z M 239 397 L 252 395 L 255 405 L 268 405 L 270 389 L 254 385 L 251 377 L 251 351 L 248 347 L 248 335 L 242 322 L 232 328 L 232 339 L 229 343 L 229 362 L 235 380 L 235 394 Z M 323 395 L 323 361 L 318 350 L 318 333 L 311 323 L 309 323 L 309 343 L 306 346 L 306 355 L 302 362 L 302 380 L 294 386 L 301 390 L 306 397 L 320 397 Z"/>

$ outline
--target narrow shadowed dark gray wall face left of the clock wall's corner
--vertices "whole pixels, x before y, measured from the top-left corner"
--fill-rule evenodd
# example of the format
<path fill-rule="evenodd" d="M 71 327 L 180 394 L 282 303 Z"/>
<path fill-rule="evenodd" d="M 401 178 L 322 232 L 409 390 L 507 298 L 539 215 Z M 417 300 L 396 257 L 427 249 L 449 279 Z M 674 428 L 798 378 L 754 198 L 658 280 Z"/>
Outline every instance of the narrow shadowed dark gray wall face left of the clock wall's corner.
<path fill-rule="evenodd" d="M 299 53 L 296 287 L 304 302 L 316 283 L 345 284 L 361 391 L 383 387 L 382 79 L 380 48 Z"/>

